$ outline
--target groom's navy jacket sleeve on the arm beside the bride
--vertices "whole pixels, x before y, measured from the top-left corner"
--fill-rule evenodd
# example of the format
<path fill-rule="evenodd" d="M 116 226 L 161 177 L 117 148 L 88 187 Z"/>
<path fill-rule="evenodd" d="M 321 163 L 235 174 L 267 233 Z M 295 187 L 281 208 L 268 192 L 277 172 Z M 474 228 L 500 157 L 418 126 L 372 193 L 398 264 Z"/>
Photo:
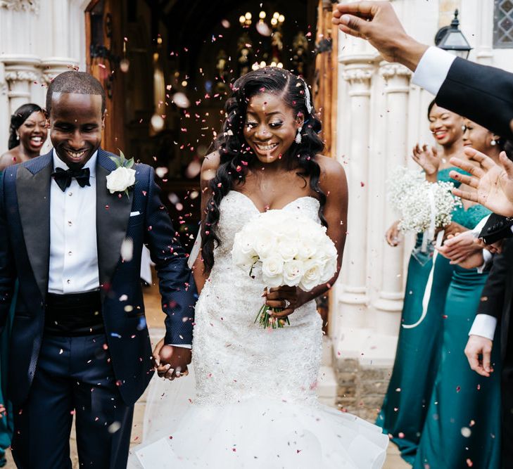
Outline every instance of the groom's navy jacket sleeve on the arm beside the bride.
<path fill-rule="evenodd" d="M 196 285 L 187 266 L 185 251 L 178 233 L 171 224 L 167 210 L 160 200 L 160 188 L 155 182 L 155 172 L 148 167 L 148 193 L 146 194 L 146 233 L 151 260 L 156 264 L 158 285 L 162 296 L 165 319 L 165 343 L 192 343 Z"/>

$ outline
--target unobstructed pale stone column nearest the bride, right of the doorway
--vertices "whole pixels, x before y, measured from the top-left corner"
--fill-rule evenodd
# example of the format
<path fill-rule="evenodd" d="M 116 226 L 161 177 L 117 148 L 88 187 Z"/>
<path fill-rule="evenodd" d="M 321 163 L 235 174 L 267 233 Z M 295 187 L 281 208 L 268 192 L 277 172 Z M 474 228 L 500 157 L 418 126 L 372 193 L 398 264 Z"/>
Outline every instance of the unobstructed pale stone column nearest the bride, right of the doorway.
<path fill-rule="evenodd" d="M 363 57 L 362 57 L 363 59 Z M 369 172 L 369 113 L 371 79 L 374 70 L 368 60 L 343 60 L 346 80 L 348 128 L 347 162 L 350 204 L 348 237 L 343 259 L 343 283 L 337 286 L 338 312 L 344 330 L 365 327 L 367 295 L 367 205 Z"/>

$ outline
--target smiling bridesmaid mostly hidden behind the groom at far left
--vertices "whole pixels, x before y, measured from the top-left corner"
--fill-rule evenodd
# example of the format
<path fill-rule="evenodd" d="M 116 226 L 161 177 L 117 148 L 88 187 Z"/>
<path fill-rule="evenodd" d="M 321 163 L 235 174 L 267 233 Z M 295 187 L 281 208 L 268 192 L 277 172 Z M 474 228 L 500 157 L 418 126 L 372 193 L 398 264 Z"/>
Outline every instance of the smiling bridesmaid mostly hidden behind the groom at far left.
<path fill-rule="evenodd" d="M 0 156 L 0 176 L 1 172 L 9 166 L 39 156 L 47 134 L 46 118 L 42 108 L 37 104 L 24 104 L 15 110 L 15 113 L 11 116 L 9 150 Z M 8 342 L 17 290 L 16 287 L 10 314 L 4 331 L 0 335 L 0 404 L 5 408 L 5 411 L 1 412 L 0 418 L 0 467 L 6 465 L 6 449 L 11 446 L 11 436 L 13 435 L 11 406 L 6 401 L 6 380 L 9 366 Z"/>

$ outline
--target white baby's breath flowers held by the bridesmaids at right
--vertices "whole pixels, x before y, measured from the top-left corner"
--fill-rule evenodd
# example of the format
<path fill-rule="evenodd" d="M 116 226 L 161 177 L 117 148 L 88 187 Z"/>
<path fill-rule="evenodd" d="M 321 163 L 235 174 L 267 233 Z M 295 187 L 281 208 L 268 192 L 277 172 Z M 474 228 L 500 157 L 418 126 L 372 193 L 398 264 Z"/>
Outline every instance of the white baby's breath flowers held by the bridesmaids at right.
<path fill-rule="evenodd" d="M 422 171 L 398 167 L 388 186 L 388 200 L 400 214 L 400 231 L 424 232 L 429 240 L 435 229 L 450 224 L 455 207 L 462 205 L 451 193 L 452 182 L 428 182 Z"/>

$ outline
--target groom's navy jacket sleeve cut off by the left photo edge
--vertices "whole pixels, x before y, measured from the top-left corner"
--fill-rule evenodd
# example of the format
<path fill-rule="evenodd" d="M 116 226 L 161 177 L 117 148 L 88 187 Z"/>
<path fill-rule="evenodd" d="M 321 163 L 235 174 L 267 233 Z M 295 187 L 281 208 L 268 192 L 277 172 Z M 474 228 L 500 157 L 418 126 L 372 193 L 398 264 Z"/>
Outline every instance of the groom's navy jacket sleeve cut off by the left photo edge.
<path fill-rule="evenodd" d="M 4 330 L 14 292 L 14 261 L 8 235 L 4 174 L 0 172 L 0 332 Z"/>

